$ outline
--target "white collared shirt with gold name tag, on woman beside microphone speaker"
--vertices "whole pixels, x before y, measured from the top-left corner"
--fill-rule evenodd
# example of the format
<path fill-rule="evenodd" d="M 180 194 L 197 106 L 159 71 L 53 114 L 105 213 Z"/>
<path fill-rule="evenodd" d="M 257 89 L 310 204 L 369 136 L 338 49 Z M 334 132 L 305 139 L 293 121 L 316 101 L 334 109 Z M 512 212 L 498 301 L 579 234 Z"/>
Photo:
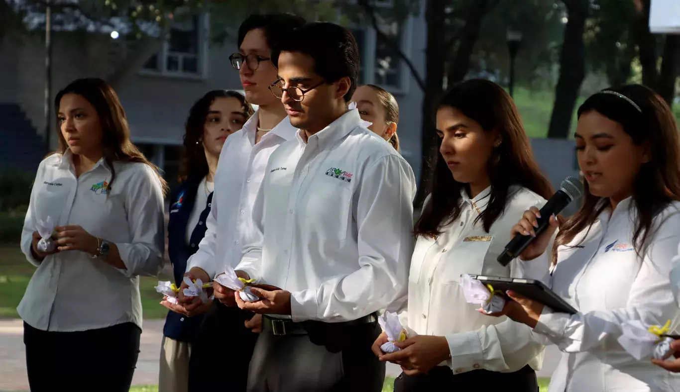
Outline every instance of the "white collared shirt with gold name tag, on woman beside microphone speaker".
<path fill-rule="evenodd" d="M 529 364 L 541 368 L 543 345 L 532 339 L 530 327 L 507 317 L 488 317 L 477 312 L 479 304 L 468 304 L 460 286 L 461 274 L 492 277 L 543 277 L 548 265 L 524 264 L 513 260 L 501 266 L 496 258 L 509 242 L 510 229 L 529 207 L 545 204 L 545 199 L 513 186 L 505 211 L 485 232 L 476 221 L 490 198 L 491 187 L 470 199 L 461 192 L 460 215 L 442 228 L 437 238 L 418 236 L 411 258 L 409 300 L 400 318 L 406 319 L 409 333 L 445 336 L 451 359 L 445 364 L 454 373 L 486 369 L 514 372 Z M 523 268 L 534 270 L 524 271 Z"/>

